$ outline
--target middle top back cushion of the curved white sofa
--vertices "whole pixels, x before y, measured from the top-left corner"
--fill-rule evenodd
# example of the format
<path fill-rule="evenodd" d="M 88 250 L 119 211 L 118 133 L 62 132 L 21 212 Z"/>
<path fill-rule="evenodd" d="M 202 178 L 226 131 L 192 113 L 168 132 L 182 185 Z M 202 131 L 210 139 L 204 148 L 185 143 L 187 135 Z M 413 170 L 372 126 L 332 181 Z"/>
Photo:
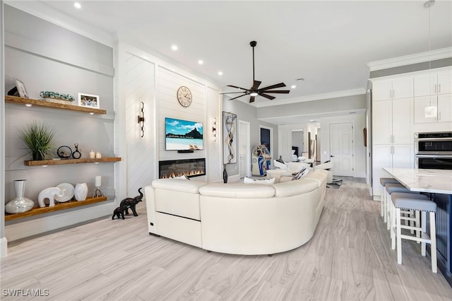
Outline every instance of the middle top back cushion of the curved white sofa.
<path fill-rule="evenodd" d="M 199 189 L 203 196 L 219 196 L 222 198 L 262 199 L 275 195 L 275 189 L 261 184 L 207 184 Z"/>

